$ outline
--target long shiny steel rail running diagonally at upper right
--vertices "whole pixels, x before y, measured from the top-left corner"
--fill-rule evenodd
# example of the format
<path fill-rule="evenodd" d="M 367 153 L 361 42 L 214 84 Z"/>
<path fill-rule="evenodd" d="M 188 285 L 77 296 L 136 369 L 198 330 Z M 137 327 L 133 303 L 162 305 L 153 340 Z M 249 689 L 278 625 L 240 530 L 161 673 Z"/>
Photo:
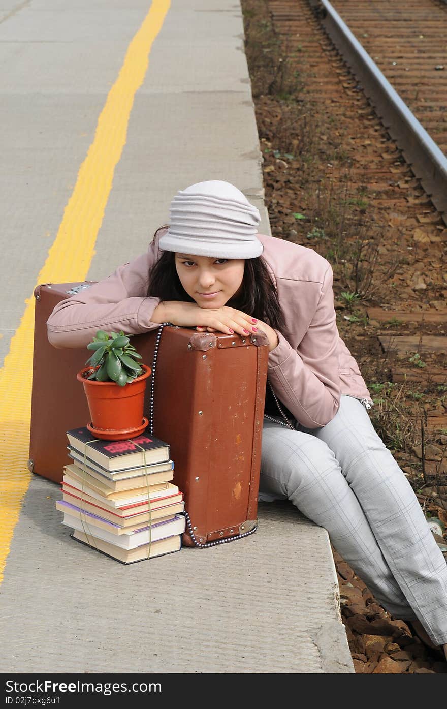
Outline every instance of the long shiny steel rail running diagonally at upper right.
<path fill-rule="evenodd" d="M 328 0 L 309 0 L 380 121 L 447 224 L 447 158 Z"/>

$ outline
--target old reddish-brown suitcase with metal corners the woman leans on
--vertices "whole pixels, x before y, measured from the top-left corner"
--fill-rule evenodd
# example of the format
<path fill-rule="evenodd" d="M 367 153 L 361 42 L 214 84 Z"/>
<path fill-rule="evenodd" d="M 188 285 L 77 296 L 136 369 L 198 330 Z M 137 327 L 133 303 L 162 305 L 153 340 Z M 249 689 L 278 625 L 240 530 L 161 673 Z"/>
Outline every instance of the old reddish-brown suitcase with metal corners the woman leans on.
<path fill-rule="evenodd" d="M 35 289 L 29 467 L 62 481 L 69 428 L 89 421 L 76 374 L 89 351 L 57 350 L 46 321 L 56 303 L 89 282 Z M 198 333 L 166 325 L 132 343 L 154 371 L 148 380 L 147 429 L 169 443 L 174 483 L 188 513 L 186 545 L 216 545 L 256 529 L 268 340 Z M 157 359 L 154 362 L 154 352 Z M 153 403 L 153 408 L 152 408 Z"/>

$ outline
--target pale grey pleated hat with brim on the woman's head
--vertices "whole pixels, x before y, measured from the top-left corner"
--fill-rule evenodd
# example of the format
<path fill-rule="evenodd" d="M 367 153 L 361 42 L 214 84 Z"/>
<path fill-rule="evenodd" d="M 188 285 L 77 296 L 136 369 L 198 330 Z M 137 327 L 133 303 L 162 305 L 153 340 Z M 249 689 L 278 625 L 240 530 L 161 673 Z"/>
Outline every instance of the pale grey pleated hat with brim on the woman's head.
<path fill-rule="evenodd" d="M 169 217 L 169 229 L 159 241 L 164 251 L 252 259 L 264 249 L 256 237 L 259 211 L 230 182 L 209 180 L 180 190 Z"/>

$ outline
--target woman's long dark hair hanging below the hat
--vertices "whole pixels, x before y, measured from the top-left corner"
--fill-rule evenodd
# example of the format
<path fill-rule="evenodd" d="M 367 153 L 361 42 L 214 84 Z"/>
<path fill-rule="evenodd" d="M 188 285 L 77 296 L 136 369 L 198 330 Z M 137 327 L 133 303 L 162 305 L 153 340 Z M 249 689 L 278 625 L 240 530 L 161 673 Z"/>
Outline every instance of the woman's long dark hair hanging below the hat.
<path fill-rule="evenodd" d="M 175 253 L 164 251 L 157 263 L 149 272 L 149 288 L 147 296 L 160 298 L 160 301 L 188 301 L 194 299 L 188 296 L 181 285 L 176 272 Z M 285 317 L 278 301 L 276 286 L 268 272 L 266 262 L 262 256 L 254 259 L 245 259 L 242 291 L 237 300 L 232 301 L 232 306 L 262 320 L 272 328 L 285 330 Z"/>

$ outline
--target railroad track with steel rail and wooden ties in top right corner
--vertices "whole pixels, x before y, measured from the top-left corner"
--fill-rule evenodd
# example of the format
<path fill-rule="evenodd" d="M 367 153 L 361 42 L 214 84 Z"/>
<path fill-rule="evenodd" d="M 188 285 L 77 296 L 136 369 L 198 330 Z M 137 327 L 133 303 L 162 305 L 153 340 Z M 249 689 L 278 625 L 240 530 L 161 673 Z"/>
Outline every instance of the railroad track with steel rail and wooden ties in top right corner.
<path fill-rule="evenodd" d="M 446 4 L 310 4 L 447 224 Z"/>

